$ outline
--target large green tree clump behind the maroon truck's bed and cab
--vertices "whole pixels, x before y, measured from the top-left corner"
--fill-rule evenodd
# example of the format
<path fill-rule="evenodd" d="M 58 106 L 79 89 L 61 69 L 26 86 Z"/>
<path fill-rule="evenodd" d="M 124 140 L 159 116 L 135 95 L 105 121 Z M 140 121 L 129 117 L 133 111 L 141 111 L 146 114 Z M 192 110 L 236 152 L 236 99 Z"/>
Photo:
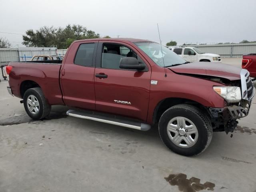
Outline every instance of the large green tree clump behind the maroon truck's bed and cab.
<path fill-rule="evenodd" d="M 48 47 L 56 46 L 59 49 L 66 49 L 74 40 L 99 38 L 100 34 L 87 30 L 81 25 L 68 24 L 65 28 L 54 28 L 53 26 L 41 27 L 39 30 L 27 30 L 23 35 L 22 44 L 27 47 Z"/>

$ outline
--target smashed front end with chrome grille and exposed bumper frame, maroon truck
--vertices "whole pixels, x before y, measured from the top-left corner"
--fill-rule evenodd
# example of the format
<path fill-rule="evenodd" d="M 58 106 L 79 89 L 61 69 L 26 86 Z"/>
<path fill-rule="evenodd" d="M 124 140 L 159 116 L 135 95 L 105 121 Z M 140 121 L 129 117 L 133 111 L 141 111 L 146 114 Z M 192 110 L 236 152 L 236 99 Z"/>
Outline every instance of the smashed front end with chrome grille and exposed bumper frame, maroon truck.
<path fill-rule="evenodd" d="M 235 82 L 238 86 L 238 82 Z M 239 102 L 229 103 L 225 101 L 224 108 L 208 108 L 214 132 L 234 132 L 237 127 L 237 119 L 246 117 L 250 111 L 255 88 L 247 70 L 241 70 L 241 82 L 239 82 L 242 99 Z"/>

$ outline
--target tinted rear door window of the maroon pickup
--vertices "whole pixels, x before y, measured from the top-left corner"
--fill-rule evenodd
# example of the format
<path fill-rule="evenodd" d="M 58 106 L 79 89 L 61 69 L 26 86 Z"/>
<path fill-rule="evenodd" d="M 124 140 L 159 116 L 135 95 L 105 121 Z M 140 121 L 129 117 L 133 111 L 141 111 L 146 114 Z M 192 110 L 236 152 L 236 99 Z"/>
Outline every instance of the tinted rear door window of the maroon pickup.
<path fill-rule="evenodd" d="M 76 52 L 74 64 L 91 67 L 93 52 L 94 52 L 94 45 L 95 45 L 94 43 L 80 44 Z"/>

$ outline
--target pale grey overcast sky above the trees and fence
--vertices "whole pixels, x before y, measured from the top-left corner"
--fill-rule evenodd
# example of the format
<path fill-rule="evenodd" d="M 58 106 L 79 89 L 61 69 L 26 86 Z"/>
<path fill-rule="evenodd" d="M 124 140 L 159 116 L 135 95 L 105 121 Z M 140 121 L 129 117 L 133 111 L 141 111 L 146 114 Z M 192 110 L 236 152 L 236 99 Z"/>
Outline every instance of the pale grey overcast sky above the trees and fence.
<path fill-rule="evenodd" d="M 28 29 L 67 24 L 159 42 L 158 23 L 163 44 L 256 40 L 256 0 L 0 0 L 0 6 L 0 37 L 13 46 Z"/>

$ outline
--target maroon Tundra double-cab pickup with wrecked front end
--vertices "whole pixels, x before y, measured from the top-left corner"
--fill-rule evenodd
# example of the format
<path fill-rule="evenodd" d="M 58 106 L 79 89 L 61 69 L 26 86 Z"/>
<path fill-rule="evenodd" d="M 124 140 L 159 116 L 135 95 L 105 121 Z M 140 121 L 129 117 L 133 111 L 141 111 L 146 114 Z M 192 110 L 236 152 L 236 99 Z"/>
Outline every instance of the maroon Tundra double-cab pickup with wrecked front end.
<path fill-rule="evenodd" d="M 157 124 L 166 146 L 193 156 L 212 132 L 233 132 L 255 88 L 245 69 L 189 63 L 160 44 L 132 38 L 73 42 L 61 60 L 10 62 L 8 91 L 39 120 L 52 105 L 67 115 L 142 131 Z"/>

